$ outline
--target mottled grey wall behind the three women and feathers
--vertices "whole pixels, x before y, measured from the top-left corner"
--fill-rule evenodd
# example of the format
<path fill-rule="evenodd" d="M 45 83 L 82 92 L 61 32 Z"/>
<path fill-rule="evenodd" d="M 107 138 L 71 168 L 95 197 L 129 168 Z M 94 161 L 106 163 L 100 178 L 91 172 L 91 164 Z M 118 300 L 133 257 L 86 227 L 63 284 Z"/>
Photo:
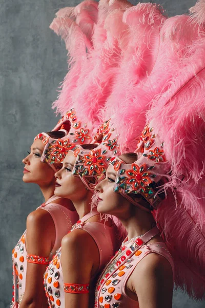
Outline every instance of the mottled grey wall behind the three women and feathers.
<path fill-rule="evenodd" d="M 43 201 L 37 186 L 22 182 L 22 159 L 36 134 L 55 125 L 51 103 L 67 71 L 64 43 L 49 25 L 57 9 L 78 3 L 0 0 L 0 308 L 8 308 L 12 298 L 12 249 L 24 232 L 28 213 Z M 158 3 L 171 16 L 188 12 L 195 0 Z M 174 293 L 173 308 L 204 306 Z"/>

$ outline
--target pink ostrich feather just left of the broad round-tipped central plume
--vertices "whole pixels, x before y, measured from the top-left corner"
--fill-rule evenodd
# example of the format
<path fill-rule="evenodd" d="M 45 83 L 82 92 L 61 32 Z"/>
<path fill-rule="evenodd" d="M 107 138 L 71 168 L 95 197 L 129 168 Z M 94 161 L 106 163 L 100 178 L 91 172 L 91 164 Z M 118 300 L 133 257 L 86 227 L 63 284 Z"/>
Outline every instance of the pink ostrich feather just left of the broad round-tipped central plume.
<path fill-rule="evenodd" d="M 112 91 L 113 78 L 121 55 L 120 38 L 113 37 L 106 25 L 115 18 L 115 27 L 121 35 L 121 30 L 125 28 L 122 12 L 129 6 L 131 4 L 127 1 L 116 1 L 109 6 L 106 1 L 99 2 L 98 23 L 93 33 L 93 48 L 89 52 L 89 68 L 80 75 L 73 92 L 73 101 L 79 104 L 82 113 L 89 106 L 95 128 L 104 120 L 101 110 Z"/>

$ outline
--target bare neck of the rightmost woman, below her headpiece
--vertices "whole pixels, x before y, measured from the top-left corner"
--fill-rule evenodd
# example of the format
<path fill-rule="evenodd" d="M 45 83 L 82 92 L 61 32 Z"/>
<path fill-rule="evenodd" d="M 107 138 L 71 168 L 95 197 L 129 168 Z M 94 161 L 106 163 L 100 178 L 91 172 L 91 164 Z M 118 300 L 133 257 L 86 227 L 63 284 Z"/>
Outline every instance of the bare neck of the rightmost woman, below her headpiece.
<path fill-rule="evenodd" d="M 127 230 L 128 239 L 144 235 L 154 226 L 154 218 L 151 213 L 136 206 L 131 206 L 127 216 L 119 218 Z"/>

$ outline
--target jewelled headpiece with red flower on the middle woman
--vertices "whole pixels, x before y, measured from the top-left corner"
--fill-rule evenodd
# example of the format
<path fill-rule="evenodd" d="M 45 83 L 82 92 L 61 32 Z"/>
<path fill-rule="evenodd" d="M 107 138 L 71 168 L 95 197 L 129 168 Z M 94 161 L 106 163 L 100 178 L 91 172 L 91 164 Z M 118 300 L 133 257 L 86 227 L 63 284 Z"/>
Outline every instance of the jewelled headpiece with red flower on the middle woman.
<path fill-rule="evenodd" d="M 93 149 L 83 149 L 79 145 L 71 149 L 76 157 L 73 175 L 80 176 L 90 190 L 94 190 L 96 184 L 105 178 L 109 162 L 118 152 L 117 134 L 109 122 L 104 122 L 97 129 L 93 138 Z M 92 183 L 91 177 L 94 178 Z"/>

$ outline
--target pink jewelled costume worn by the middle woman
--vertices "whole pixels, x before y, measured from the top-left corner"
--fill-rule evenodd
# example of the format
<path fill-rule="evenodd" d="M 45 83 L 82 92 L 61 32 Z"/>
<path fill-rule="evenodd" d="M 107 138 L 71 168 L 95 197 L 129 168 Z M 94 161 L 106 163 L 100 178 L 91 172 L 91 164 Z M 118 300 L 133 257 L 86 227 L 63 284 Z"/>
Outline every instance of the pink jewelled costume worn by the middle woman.
<path fill-rule="evenodd" d="M 99 251 L 99 267 L 97 273 L 91 278 L 91 294 L 93 295 L 94 284 L 96 283 L 96 276 L 100 273 L 107 262 L 112 258 L 116 249 L 116 226 L 106 226 L 99 222 L 87 222 L 86 221 L 98 215 L 97 211 L 88 213 L 81 218 L 71 229 L 71 232 L 75 229 L 82 229 L 88 232 L 94 239 L 98 251 Z M 115 244 L 114 244 L 115 243 Z M 80 254 L 80 252 L 79 252 Z M 65 307 L 65 296 L 64 296 L 64 278 L 63 271 L 60 263 L 61 248 L 57 251 L 55 257 L 51 261 L 45 273 L 45 290 L 48 298 L 49 306 L 54 307 Z"/>

